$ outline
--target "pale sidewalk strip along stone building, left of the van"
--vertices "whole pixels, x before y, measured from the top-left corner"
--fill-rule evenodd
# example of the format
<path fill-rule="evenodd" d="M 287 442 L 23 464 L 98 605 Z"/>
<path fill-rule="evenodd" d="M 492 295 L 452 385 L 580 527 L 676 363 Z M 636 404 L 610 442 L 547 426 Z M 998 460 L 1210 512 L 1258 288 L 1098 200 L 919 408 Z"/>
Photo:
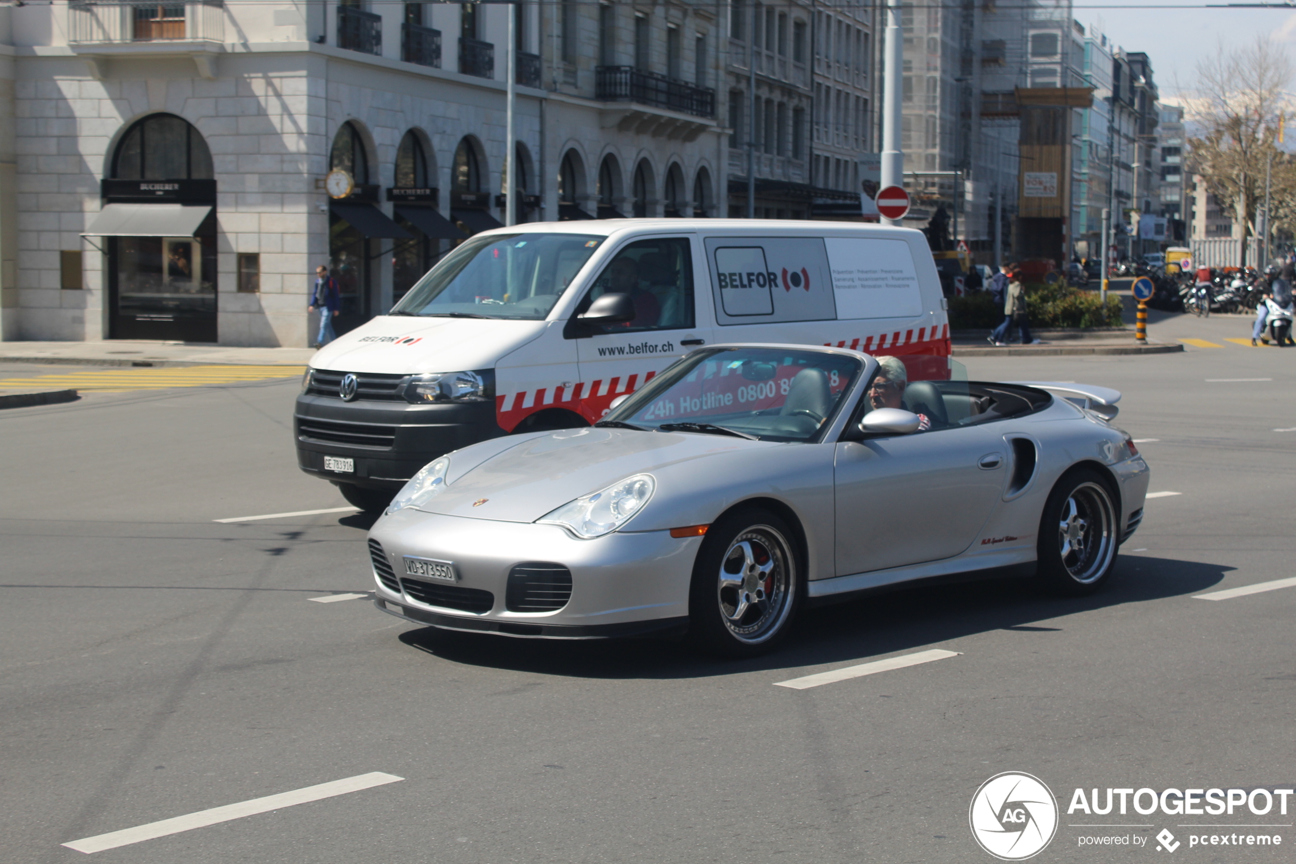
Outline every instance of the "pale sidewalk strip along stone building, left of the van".
<path fill-rule="evenodd" d="M 0 363 L 80 367 L 303 367 L 315 348 L 237 348 L 184 342 L 0 342 Z"/>

